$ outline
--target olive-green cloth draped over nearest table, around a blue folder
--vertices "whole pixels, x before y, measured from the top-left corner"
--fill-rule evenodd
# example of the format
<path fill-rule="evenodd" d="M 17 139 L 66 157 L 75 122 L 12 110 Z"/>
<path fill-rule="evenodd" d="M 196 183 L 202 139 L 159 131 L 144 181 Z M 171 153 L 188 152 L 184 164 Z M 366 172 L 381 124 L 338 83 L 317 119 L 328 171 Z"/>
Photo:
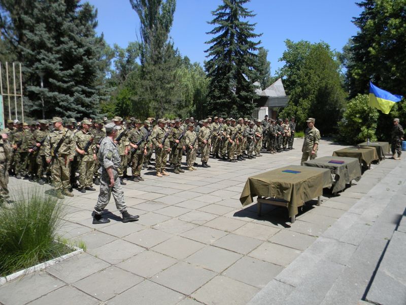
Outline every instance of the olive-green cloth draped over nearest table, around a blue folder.
<path fill-rule="evenodd" d="M 298 173 L 284 172 L 297 171 Z M 240 202 L 251 204 L 253 197 L 261 196 L 287 201 L 289 216 L 297 214 L 297 207 L 323 194 L 323 188 L 332 185 L 329 169 L 290 165 L 267 171 L 247 179 Z"/>

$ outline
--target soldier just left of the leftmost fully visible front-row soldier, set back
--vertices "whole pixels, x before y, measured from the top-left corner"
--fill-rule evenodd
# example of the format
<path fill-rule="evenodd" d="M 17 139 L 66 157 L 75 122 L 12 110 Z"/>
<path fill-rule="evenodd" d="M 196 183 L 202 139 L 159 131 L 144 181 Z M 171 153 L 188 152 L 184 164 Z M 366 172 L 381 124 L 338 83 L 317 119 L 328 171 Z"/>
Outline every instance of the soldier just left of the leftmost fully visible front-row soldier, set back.
<path fill-rule="evenodd" d="M 38 182 L 40 185 L 44 185 L 46 179 L 44 178 L 44 173 L 49 176 L 49 170 L 48 170 L 48 163 L 45 158 L 45 147 L 44 143 L 49 135 L 48 131 L 48 121 L 45 119 L 41 119 L 39 121 L 40 123 L 40 129 L 37 129 L 34 133 L 33 136 L 35 138 L 36 142 L 36 147 L 37 147 L 37 153 L 36 153 L 36 163 L 37 163 L 37 177 L 38 177 Z"/>

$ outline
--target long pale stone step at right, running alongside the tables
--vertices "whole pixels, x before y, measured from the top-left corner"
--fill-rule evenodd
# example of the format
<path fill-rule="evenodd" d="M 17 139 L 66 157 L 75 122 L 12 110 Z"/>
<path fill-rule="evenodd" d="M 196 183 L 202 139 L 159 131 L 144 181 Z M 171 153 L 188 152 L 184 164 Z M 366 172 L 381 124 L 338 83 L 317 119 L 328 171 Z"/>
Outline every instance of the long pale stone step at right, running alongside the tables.
<path fill-rule="evenodd" d="M 403 161 L 366 171 L 342 193 L 364 193 L 358 202 L 249 304 L 357 304 L 403 213 L 405 178 Z"/>

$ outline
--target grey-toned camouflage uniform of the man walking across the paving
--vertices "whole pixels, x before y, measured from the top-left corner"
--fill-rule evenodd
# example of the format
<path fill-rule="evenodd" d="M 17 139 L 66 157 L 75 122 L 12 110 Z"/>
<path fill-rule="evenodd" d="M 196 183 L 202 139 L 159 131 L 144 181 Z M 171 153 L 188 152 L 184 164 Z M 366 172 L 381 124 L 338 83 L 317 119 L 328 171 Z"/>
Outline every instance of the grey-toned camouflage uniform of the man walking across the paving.
<path fill-rule="evenodd" d="M 97 198 L 97 203 L 94 206 L 96 214 L 103 214 L 103 209 L 110 201 L 111 194 L 113 194 L 116 207 L 120 210 L 121 214 L 127 211 L 127 206 L 124 202 L 124 193 L 121 188 L 120 178 L 118 175 L 118 169 L 121 166 L 120 153 L 118 145 L 115 144 L 109 137 L 103 138 L 100 142 L 100 147 L 97 153 L 97 157 L 100 163 L 100 193 Z M 107 173 L 107 168 L 113 168 L 114 186 L 110 185 L 110 177 Z"/>

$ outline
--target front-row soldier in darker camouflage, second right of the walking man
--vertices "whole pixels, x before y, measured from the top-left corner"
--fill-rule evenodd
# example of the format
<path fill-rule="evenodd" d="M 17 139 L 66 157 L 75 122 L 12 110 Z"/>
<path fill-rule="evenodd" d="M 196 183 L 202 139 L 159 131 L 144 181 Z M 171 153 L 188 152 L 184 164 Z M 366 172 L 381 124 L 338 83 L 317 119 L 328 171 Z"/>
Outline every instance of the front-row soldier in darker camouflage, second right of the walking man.
<path fill-rule="evenodd" d="M 131 173 L 132 176 L 130 178 L 131 181 L 140 182 L 144 181 L 144 178 L 141 177 L 141 169 L 143 167 L 144 156 L 147 155 L 147 145 L 146 141 L 142 142 L 137 145 L 139 141 L 141 141 L 144 137 L 144 133 L 141 131 L 141 121 L 139 119 L 134 120 L 134 124 L 136 124 L 136 128 L 131 130 L 128 133 L 128 142 L 131 146 L 131 150 L 136 149 L 135 153 L 129 154 L 131 158 Z"/>

